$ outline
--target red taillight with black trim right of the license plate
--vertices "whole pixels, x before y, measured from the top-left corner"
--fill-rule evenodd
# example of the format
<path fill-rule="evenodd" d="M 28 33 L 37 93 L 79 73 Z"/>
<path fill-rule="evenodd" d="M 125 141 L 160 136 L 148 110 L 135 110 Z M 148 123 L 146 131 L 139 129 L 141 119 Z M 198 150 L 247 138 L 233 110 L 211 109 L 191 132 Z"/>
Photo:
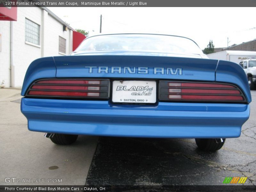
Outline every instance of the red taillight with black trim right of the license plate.
<path fill-rule="evenodd" d="M 246 102 L 233 84 L 159 81 L 159 100 L 194 102 Z"/>

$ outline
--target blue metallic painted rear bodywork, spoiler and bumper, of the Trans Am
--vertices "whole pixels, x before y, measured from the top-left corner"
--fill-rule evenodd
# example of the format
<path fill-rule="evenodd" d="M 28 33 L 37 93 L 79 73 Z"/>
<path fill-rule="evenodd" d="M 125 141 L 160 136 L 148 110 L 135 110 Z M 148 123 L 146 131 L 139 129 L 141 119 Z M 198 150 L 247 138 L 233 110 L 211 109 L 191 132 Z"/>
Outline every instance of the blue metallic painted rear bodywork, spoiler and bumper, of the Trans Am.
<path fill-rule="evenodd" d="M 114 53 L 113 53 L 114 54 Z M 251 102 L 243 69 L 227 61 L 166 56 L 82 55 L 41 58 L 31 63 L 24 79 L 29 85 L 40 78 L 153 78 L 202 80 L 238 85 Z M 85 66 L 148 67 L 149 74 L 88 73 Z M 182 68 L 182 75 L 153 74 L 154 67 Z M 169 103 L 122 105 L 109 101 L 22 98 L 21 112 L 28 129 L 38 132 L 105 136 L 168 138 L 239 137 L 249 118 L 249 104 Z M 100 121 L 99 121 L 100 120 Z"/>

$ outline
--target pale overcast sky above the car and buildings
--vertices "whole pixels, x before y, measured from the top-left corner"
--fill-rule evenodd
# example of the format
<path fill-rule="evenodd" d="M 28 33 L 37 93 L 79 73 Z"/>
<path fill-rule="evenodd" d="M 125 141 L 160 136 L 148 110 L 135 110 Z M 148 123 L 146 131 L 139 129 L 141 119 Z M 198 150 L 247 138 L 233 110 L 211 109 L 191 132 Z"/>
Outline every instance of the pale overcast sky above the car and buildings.
<path fill-rule="evenodd" d="M 72 28 L 102 33 L 157 33 L 185 36 L 204 49 L 256 39 L 255 7 L 48 7 Z M 229 41 L 229 43 L 228 43 Z"/>

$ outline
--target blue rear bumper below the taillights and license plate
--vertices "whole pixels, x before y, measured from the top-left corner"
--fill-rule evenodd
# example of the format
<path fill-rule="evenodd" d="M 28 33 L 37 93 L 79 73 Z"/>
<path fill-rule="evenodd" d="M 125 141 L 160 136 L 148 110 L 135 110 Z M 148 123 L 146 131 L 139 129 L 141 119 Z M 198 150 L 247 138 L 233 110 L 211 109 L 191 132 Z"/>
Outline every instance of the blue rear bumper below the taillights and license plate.
<path fill-rule="evenodd" d="M 37 132 L 158 138 L 235 138 L 249 104 L 115 105 L 108 101 L 21 99 L 28 129 Z"/>

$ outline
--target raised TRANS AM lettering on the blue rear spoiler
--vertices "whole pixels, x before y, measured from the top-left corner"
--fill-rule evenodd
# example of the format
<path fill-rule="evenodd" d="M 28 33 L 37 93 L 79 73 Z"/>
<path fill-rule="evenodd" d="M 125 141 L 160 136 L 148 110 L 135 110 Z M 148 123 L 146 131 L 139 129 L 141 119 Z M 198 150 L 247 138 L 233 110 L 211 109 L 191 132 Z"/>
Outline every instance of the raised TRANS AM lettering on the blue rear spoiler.
<path fill-rule="evenodd" d="M 153 70 L 148 67 L 96 67 L 85 66 L 89 73 L 129 73 L 129 74 L 162 74 L 162 75 L 182 75 L 182 68 L 164 68 L 154 67 Z"/>

